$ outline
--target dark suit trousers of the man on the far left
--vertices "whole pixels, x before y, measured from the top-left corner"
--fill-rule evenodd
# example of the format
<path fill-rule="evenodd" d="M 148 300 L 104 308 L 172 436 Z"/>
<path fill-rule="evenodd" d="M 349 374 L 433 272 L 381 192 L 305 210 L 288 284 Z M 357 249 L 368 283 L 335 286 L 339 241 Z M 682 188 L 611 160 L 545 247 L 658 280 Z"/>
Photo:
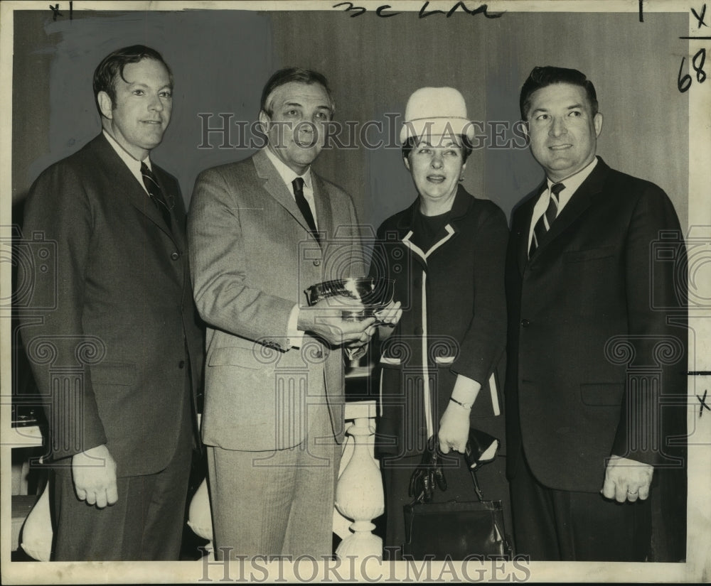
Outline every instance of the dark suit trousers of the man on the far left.
<path fill-rule="evenodd" d="M 52 474 L 54 561 L 178 560 L 193 446 L 191 406 L 184 404 L 169 465 L 156 474 L 117 478 L 116 504 L 89 506 L 77 499 L 70 468 Z"/>

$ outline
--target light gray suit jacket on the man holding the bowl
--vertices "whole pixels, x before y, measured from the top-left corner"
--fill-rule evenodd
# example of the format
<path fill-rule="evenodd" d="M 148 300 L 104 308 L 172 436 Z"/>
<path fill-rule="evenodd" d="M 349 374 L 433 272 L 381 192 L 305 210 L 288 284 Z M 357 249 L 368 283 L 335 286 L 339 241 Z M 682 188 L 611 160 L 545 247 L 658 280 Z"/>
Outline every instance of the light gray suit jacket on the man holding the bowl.
<path fill-rule="evenodd" d="M 353 202 L 314 178 L 321 246 L 264 151 L 203 171 L 188 214 L 188 249 L 198 311 L 208 324 L 207 445 L 274 450 L 304 441 L 309 406 L 326 403 L 343 438 L 343 356 L 306 336 L 287 341 L 304 290 L 365 271 Z"/>

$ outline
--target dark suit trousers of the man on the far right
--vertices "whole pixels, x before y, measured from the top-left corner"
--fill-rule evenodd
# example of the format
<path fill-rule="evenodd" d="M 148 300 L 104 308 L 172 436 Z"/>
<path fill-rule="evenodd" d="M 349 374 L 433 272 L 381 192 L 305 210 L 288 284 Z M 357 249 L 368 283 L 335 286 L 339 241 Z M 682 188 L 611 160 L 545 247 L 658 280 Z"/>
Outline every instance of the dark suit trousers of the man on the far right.
<path fill-rule="evenodd" d="M 518 554 L 536 561 L 611 562 L 643 562 L 650 554 L 649 499 L 618 503 L 595 492 L 544 487 L 523 454 L 510 486 Z"/>

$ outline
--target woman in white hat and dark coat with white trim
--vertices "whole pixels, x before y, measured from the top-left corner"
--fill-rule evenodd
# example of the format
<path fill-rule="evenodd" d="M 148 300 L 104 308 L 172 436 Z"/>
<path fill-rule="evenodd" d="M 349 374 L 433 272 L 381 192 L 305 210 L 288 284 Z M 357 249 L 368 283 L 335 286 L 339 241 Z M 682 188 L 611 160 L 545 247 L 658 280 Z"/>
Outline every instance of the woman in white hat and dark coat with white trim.
<path fill-rule="evenodd" d="M 498 457 L 478 468 L 477 478 L 485 499 L 503 501 L 506 531 L 512 527 L 502 396 L 506 217 L 459 184 L 473 125 L 456 89 L 418 89 L 405 120 L 402 156 L 418 197 L 378 229 L 371 268 L 371 274 L 395 280 L 395 300 L 402 303 L 400 322 L 381 327 L 385 559 L 400 556 L 402 506 L 412 501 L 410 477 L 433 435 L 442 452 L 451 452 L 443 467 L 447 491 L 435 489 L 433 502 L 477 500 L 457 453 L 464 453 L 470 426 L 501 441 Z"/>

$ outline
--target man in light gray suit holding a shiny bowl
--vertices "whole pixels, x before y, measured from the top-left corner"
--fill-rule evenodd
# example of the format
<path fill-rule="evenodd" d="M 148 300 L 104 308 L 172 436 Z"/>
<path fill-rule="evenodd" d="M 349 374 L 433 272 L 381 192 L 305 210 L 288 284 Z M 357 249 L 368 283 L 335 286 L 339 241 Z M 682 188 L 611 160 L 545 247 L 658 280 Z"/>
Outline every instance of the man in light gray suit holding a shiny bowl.
<path fill-rule="evenodd" d="M 375 327 L 343 321 L 338 303 L 305 303 L 309 286 L 366 268 L 351 197 L 311 170 L 332 116 L 321 74 L 276 72 L 262 92 L 267 146 L 205 170 L 193 192 L 188 246 L 208 323 L 202 433 L 218 559 L 332 553 L 341 347 L 365 344 Z"/>

